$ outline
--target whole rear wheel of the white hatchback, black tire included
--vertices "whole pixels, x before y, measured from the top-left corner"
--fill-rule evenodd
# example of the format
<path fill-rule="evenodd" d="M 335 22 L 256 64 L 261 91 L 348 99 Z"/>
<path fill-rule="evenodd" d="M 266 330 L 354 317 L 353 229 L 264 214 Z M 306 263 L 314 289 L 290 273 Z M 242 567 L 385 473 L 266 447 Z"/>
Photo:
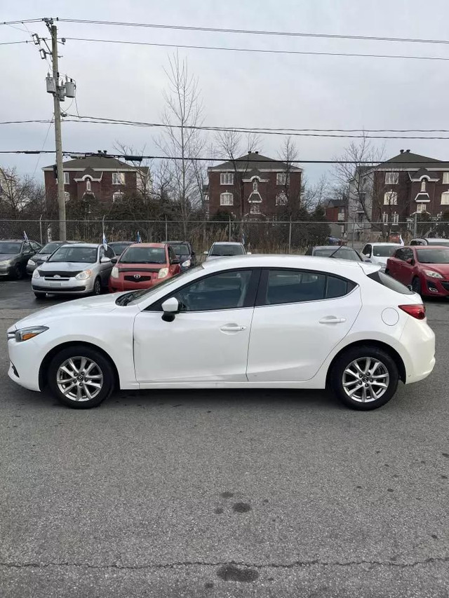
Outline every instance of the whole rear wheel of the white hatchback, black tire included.
<path fill-rule="evenodd" d="M 364 360 L 367 359 L 380 362 L 380 365 L 372 375 L 384 376 L 384 378 L 377 380 L 377 378 L 371 378 L 369 374 L 363 376 L 357 373 L 356 376 L 353 376 L 352 374 L 347 373 L 349 368 L 350 371 L 358 372 L 356 366 L 353 365 L 356 360 L 361 360 L 359 365 L 362 366 L 361 370 L 363 371 L 363 364 L 366 364 L 366 361 Z M 371 369 L 371 371 L 373 370 Z M 376 372 L 379 372 L 379 374 Z M 380 382 L 382 380 L 384 383 L 387 383 L 387 389 L 384 390 L 383 393 L 383 388 L 376 384 L 376 381 Z M 338 397 L 344 405 L 347 405 L 347 407 L 358 409 L 360 411 L 369 411 L 370 409 L 382 407 L 382 405 L 389 402 L 394 393 L 396 393 L 398 381 L 398 367 L 391 358 L 391 355 L 380 348 L 366 345 L 348 348 L 347 351 L 344 351 L 344 353 L 335 360 L 329 373 L 328 386 L 335 396 Z M 344 383 L 347 383 L 349 387 L 347 388 L 348 392 L 345 389 Z M 359 386 L 360 384 L 363 386 Z M 358 388 L 360 390 L 358 390 Z M 356 390 L 356 392 L 354 392 L 354 397 L 349 396 L 348 393 L 350 390 Z M 364 393 L 366 393 L 365 400 L 363 400 Z M 378 394 L 380 397 L 375 398 L 373 397 L 373 394 Z"/>

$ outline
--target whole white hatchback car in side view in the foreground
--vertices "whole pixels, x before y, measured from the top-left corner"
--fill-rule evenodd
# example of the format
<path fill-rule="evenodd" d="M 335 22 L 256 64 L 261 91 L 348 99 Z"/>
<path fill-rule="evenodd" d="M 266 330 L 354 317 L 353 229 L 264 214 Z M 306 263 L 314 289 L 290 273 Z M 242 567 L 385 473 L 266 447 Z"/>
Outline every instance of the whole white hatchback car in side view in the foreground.
<path fill-rule="evenodd" d="M 255 255 L 33 313 L 8 329 L 8 374 L 76 408 L 114 388 L 329 387 L 375 409 L 434 350 L 420 297 L 379 266 Z"/>

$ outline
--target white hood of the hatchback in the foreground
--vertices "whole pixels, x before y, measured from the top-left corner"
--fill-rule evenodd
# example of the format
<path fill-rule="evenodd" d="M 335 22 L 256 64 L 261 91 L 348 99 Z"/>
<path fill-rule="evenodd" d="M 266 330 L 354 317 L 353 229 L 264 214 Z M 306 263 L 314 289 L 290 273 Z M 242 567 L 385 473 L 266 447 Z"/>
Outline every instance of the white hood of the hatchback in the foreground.
<path fill-rule="evenodd" d="M 53 320 L 74 318 L 88 312 L 109 313 L 114 309 L 118 309 L 115 302 L 120 294 L 123 293 L 100 295 L 98 297 L 85 297 L 83 299 L 67 301 L 67 303 L 62 303 L 53 307 L 47 307 L 15 322 L 15 325 L 13 325 L 10 330 L 25 326 L 47 326 Z"/>

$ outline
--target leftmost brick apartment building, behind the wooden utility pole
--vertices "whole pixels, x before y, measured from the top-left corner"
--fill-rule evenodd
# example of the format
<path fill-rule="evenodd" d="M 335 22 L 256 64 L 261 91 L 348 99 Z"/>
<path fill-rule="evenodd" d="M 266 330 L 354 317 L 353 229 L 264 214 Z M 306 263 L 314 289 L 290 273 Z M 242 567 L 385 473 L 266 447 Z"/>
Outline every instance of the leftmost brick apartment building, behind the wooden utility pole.
<path fill-rule="evenodd" d="M 58 189 L 53 165 L 42 170 L 47 201 L 55 201 Z M 136 168 L 99 152 L 66 161 L 63 176 L 66 203 L 90 196 L 99 203 L 111 204 L 125 194 L 148 189 L 149 169 L 146 166 Z"/>

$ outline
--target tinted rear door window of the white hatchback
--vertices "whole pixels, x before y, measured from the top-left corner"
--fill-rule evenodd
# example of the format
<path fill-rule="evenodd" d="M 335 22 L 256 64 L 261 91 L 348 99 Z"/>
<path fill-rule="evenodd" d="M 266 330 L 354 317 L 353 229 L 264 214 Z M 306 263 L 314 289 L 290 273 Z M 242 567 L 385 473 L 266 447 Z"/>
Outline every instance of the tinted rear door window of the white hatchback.
<path fill-rule="evenodd" d="M 279 305 L 343 297 L 355 287 L 350 280 L 323 272 L 269 270 L 262 275 L 258 305 Z"/>

